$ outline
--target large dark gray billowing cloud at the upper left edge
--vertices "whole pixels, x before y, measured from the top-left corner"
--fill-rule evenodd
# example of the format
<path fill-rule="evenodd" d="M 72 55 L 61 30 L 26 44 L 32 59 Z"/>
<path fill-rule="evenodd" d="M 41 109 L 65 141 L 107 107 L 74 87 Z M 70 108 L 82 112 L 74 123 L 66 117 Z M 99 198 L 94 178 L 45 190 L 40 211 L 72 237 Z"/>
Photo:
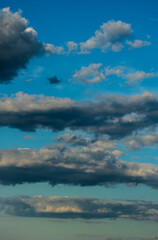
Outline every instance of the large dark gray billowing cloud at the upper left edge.
<path fill-rule="evenodd" d="M 3 8 L 0 23 L 0 83 L 9 83 L 30 59 L 47 53 L 48 44 L 37 39 L 37 32 L 28 27 L 20 11 Z"/>

